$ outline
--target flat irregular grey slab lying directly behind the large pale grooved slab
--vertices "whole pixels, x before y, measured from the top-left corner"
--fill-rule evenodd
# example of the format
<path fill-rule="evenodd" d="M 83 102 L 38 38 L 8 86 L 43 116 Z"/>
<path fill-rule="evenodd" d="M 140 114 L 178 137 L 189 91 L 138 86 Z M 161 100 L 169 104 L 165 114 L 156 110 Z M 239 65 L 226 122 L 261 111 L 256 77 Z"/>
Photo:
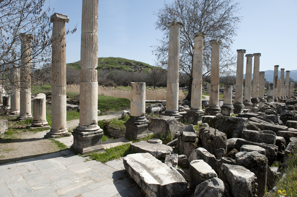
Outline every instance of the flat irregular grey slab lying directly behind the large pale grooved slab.
<path fill-rule="evenodd" d="M 150 153 L 157 159 L 161 157 L 165 158 L 166 155 L 170 155 L 173 151 L 170 146 L 165 144 L 151 144 L 144 141 L 131 143 L 130 148 L 137 153 Z"/>

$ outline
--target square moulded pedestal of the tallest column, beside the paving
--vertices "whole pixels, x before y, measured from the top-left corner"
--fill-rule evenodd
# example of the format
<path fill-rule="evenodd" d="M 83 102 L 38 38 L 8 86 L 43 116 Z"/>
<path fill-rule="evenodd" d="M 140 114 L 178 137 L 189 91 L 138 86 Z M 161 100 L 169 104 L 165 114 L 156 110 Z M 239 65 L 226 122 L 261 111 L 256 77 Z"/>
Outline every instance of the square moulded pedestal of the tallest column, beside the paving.
<path fill-rule="evenodd" d="M 103 130 L 100 129 L 98 125 L 97 127 L 99 128 L 98 130 L 90 131 L 90 129 L 88 129 L 86 132 L 81 132 L 77 128 L 73 129 L 73 132 L 71 132 L 73 135 L 73 144 L 71 147 L 76 149 L 81 154 L 87 154 L 91 151 L 103 150 Z"/>

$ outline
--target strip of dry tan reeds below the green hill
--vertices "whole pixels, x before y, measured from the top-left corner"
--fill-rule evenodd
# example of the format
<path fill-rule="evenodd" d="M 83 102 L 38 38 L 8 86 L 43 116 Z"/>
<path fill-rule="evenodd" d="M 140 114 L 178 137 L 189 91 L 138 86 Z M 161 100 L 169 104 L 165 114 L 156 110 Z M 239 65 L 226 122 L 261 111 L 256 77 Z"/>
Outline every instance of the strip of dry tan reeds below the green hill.
<path fill-rule="evenodd" d="M 79 94 L 79 85 L 68 85 L 67 92 L 73 92 Z M 184 99 L 186 96 L 179 90 L 178 92 L 179 98 Z M 129 89 L 124 88 L 115 88 L 115 87 L 105 87 L 105 86 L 98 86 L 98 95 L 104 96 L 111 96 L 111 97 L 118 97 L 118 98 L 126 98 L 131 99 L 131 91 Z M 165 89 L 146 89 L 146 100 L 166 100 L 166 90 Z"/>

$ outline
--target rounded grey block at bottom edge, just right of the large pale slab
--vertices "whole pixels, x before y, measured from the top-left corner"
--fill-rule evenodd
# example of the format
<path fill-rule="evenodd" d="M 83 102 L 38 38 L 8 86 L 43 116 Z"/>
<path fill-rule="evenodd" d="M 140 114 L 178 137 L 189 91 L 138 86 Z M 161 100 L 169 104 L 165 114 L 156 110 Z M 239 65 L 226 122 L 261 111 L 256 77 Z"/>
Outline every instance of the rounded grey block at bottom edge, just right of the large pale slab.
<path fill-rule="evenodd" d="M 230 197 L 224 182 L 217 177 L 200 183 L 194 193 L 194 197 Z"/>

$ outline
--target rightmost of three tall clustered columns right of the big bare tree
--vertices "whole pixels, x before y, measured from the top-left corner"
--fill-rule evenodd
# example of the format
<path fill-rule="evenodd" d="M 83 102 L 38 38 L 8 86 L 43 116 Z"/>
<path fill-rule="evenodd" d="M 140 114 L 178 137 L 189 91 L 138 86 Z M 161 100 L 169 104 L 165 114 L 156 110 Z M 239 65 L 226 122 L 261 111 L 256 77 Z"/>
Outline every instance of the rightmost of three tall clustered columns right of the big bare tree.
<path fill-rule="evenodd" d="M 253 73 L 253 87 L 252 87 L 252 104 L 253 107 L 259 105 L 260 100 L 258 99 L 259 93 L 259 70 L 260 70 L 260 56 L 261 53 L 254 53 L 254 73 Z"/>

